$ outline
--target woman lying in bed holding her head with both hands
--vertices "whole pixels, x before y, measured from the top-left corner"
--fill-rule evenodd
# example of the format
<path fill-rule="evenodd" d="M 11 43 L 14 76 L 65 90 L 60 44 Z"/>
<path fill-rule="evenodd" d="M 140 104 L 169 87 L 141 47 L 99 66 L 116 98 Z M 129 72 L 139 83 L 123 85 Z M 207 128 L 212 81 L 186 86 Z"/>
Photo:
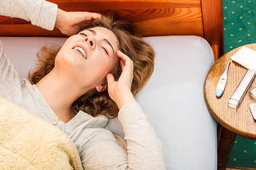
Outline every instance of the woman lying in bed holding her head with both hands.
<path fill-rule="evenodd" d="M 134 99 L 152 74 L 154 51 L 131 25 L 44 0 L 3 0 L 0 14 L 71 36 L 61 49 L 42 48 L 29 79 L 18 77 L 1 49 L 0 96 L 67 133 L 84 169 L 166 169 L 161 143 Z M 127 152 L 107 126 L 118 110 Z"/>

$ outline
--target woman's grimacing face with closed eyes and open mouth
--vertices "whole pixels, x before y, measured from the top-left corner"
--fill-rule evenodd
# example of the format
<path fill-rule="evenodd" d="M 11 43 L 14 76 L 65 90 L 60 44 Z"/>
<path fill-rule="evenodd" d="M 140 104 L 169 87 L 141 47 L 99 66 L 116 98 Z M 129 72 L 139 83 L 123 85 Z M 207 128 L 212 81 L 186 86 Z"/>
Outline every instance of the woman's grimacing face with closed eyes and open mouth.
<path fill-rule="evenodd" d="M 86 56 L 75 47 L 82 48 Z M 117 63 L 118 48 L 115 34 L 107 28 L 85 29 L 66 40 L 56 56 L 54 69 L 81 88 L 105 91 L 105 78 Z"/>

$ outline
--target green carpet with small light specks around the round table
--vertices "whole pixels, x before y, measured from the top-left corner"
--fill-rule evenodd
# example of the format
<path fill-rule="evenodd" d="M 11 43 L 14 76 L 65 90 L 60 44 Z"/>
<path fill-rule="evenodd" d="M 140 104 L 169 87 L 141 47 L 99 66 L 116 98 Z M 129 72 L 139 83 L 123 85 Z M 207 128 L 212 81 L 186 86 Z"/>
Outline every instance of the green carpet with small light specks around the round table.
<path fill-rule="evenodd" d="M 256 42 L 256 0 L 223 0 L 223 15 L 225 53 Z M 256 141 L 237 136 L 228 166 L 256 167 Z"/>

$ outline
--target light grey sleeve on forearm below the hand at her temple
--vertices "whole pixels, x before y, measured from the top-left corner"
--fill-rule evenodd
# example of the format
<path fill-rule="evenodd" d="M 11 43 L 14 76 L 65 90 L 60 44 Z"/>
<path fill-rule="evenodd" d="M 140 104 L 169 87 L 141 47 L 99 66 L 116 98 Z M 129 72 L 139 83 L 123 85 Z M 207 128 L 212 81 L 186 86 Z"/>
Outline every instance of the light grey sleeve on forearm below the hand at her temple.
<path fill-rule="evenodd" d="M 129 166 L 139 170 L 166 170 L 161 142 L 139 103 L 123 105 L 118 119 L 125 132 Z"/>

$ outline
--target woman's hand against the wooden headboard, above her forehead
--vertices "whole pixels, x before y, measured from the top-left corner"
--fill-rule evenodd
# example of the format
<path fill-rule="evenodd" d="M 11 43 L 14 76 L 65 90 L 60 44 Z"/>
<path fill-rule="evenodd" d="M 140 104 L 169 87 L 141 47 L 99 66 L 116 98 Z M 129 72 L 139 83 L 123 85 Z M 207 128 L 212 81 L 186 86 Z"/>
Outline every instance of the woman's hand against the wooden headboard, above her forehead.
<path fill-rule="evenodd" d="M 55 27 L 62 34 L 72 36 L 77 33 L 79 28 L 92 19 L 101 17 L 98 13 L 91 12 L 67 12 L 58 8 L 58 13 L 55 21 Z"/>

